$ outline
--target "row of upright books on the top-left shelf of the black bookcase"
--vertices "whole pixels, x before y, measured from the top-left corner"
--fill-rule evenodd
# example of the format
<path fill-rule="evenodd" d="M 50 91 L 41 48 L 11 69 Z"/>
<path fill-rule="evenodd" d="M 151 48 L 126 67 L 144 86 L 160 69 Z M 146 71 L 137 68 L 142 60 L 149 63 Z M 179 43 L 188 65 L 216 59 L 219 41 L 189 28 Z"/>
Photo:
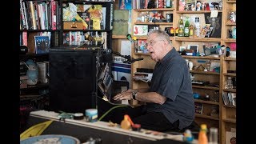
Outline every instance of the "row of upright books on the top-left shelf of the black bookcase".
<path fill-rule="evenodd" d="M 20 0 L 21 30 L 57 30 L 60 23 L 58 1 Z"/>

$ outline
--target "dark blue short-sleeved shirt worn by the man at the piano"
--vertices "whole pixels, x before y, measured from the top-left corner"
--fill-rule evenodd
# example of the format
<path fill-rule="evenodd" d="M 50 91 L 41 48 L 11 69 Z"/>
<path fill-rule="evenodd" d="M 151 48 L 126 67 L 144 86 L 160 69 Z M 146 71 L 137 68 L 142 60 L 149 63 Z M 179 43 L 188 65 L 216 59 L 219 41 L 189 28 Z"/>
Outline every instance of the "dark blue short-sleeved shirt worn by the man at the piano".
<path fill-rule="evenodd" d="M 154 67 L 150 92 L 166 97 L 162 105 L 148 102 L 148 111 L 161 112 L 171 122 L 179 120 L 179 129 L 194 121 L 194 98 L 186 61 L 173 48 Z"/>

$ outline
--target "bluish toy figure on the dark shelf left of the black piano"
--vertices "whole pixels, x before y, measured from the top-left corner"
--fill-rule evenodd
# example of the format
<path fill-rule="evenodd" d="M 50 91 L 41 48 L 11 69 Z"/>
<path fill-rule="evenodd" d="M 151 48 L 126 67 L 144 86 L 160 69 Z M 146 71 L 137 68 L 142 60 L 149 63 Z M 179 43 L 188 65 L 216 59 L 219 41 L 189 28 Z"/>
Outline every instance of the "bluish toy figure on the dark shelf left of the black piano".
<path fill-rule="evenodd" d="M 27 60 L 26 65 L 28 66 L 26 82 L 28 85 L 36 85 L 38 83 L 38 65 L 32 59 Z"/>

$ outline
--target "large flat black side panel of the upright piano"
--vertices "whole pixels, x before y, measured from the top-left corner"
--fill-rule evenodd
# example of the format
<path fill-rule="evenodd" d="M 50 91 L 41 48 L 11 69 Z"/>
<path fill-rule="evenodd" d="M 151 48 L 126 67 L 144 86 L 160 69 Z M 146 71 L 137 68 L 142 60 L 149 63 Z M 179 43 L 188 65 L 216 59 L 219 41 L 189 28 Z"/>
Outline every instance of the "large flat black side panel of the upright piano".
<path fill-rule="evenodd" d="M 96 108 L 96 57 L 94 50 L 50 50 L 50 110 L 84 114 Z"/>

